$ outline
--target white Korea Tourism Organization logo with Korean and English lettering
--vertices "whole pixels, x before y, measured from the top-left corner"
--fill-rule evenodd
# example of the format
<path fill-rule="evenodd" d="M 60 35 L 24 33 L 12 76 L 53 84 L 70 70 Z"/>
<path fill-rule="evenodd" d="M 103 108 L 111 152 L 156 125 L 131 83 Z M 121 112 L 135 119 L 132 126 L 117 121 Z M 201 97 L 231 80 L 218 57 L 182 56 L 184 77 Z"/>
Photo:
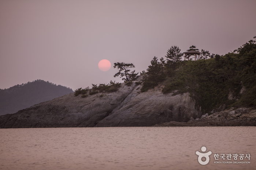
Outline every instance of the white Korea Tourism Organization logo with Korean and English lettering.
<path fill-rule="evenodd" d="M 205 152 L 206 151 L 206 147 L 201 147 L 201 151 Z M 196 151 L 196 154 L 198 155 L 198 162 L 201 165 L 207 165 L 210 161 L 210 155 L 212 154 L 211 151 L 205 152 L 205 153 L 201 153 L 199 151 Z M 205 158 L 205 161 L 202 161 L 202 158 Z M 225 161 L 226 158 L 226 161 Z M 233 158 L 233 161 L 231 161 Z M 239 158 L 239 159 L 238 159 Z M 214 161 L 214 163 L 238 163 L 238 164 L 242 164 L 242 163 L 251 163 L 249 162 L 251 158 L 250 154 L 219 154 L 219 153 L 215 153 L 214 154 L 214 159 L 216 161 Z M 245 159 L 245 160 L 244 160 Z"/>

